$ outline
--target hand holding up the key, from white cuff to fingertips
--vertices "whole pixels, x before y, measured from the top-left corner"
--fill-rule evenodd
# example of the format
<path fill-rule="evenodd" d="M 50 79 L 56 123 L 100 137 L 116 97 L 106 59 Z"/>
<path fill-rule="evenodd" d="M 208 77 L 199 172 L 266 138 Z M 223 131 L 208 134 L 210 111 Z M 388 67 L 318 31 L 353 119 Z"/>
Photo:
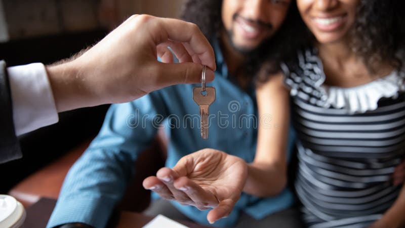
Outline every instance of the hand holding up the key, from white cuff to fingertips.
<path fill-rule="evenodd" d="M 173 63 L 172 49 L 180 63 Z M 163 62 L 158 62 L 161 57 Z M 58 111 L 132 101 L 163 87 L 214 80 L 214 51 L 199 28 L 134 15 L 74 60 L 48 66 Z"/>

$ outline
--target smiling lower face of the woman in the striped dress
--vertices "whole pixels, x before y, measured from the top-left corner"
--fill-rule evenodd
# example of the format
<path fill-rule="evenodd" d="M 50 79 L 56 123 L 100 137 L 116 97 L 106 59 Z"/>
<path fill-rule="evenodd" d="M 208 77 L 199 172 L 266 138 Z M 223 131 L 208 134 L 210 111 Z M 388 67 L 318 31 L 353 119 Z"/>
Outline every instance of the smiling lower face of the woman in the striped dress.
<path fill-rule="evenodd" d="M 297 0 L 305 24 L 324 44 L 345 39 L 354 24 L 358 4 L 359 0 Z"/>

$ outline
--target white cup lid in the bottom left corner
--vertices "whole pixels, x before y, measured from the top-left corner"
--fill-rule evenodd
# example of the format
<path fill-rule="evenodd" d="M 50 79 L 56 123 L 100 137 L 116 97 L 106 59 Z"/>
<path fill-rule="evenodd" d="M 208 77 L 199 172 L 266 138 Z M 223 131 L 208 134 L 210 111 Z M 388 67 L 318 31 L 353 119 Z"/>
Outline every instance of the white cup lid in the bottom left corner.
<path fill-rule="evenodd" d="M 20 228 L 25 220 L 25 209 L 14 197 L 0 195 L 0 228 Z"/>

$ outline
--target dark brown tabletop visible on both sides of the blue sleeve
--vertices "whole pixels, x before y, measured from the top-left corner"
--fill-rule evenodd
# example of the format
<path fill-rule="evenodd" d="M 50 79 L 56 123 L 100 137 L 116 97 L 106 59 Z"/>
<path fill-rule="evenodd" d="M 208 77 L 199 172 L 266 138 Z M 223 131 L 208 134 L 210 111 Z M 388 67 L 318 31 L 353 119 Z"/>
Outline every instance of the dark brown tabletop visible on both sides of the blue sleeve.
<path fill-rule="evenodd" d="M 49 217 L 55 207 L 56 200 L 49 198 L 41 198 L 38 202 L 31 205 L 26 209 L 27 217 L 24 222 L 25 228 L 44 228 L 46 227 Z M 129 211 L 120 211 L 115 212 L 111 221 L 109 222 L 109 228 L 140 228 L 152 220 L 153 217 L 146 216 L 140 213 L 129 212 Z M 198 225 L 192 222 L 187 221 L 178 221 L 190 228 L 208 228 L 207 226 Z"/>

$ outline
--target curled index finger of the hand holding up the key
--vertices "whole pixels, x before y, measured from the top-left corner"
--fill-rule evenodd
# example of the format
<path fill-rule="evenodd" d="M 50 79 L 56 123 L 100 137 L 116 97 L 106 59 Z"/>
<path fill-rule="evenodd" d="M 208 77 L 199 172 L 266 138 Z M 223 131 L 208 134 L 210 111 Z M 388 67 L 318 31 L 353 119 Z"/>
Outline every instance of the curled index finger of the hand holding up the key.
<path fill-rule="evenodd" d="M 170 19 L 161 18 L 161 32 L 160 35 L 155 37 L 156 45 L 167 40 L 183 43 L 189 52 L 190 56 L 196 56 L 193 58 L 195 63 L 207 65 L 212 70 L 216 69 L 214 50 L 204 36 L 203 32 L 192 23 Z"/>

